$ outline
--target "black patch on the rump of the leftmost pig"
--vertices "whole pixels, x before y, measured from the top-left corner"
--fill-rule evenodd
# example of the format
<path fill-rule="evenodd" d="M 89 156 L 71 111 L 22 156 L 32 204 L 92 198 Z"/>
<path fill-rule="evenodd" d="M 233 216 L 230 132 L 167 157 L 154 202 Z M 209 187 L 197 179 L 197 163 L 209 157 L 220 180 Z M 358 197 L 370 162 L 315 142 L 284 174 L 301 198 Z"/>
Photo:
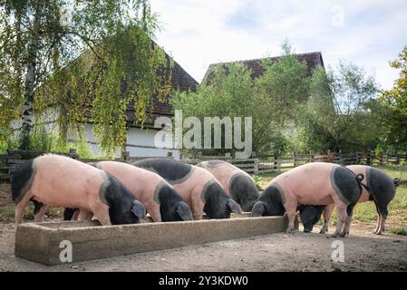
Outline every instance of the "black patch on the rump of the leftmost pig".
<path fill-rule="evenodd" d="M 34 160 L 25 161 L 15 170 L 11 178 L 11 196 L 15 204 L 18 204 L 25 193 L 30 190 L 35 178 Z"/>

